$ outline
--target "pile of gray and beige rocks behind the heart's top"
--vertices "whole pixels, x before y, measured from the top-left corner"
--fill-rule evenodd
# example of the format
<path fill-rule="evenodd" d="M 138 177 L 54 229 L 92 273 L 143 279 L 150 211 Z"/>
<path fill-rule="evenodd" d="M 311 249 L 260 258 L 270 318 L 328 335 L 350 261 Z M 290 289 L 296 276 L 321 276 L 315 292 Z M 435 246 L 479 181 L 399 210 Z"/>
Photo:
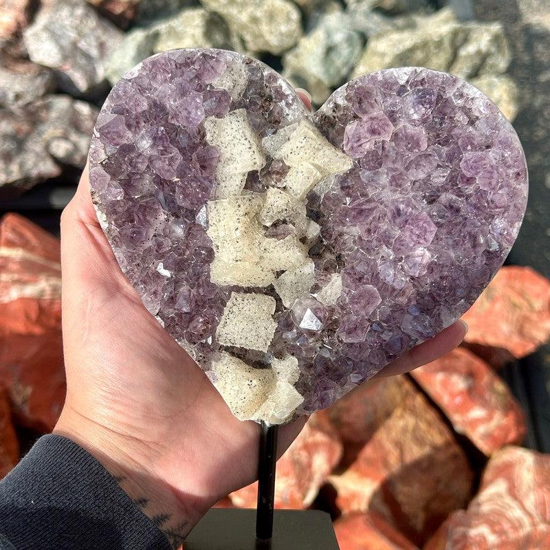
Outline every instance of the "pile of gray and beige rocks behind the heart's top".
<path fill-rule="evenodd" d="M 21 144 L 13 115 L 1 109 L 63 92 L 91 102 L 95 113 L 126 70 L 151 54 L 181 47 L 252 54 L 292 85 L 309 89 L 318 105 L 367 71 L 425 65 L 465 77 L 510 120 L 518 110 L 499 23 L 463 23 L 448 9 L 432 12 L 425 0 L 9 0 L 0 6 L 0 119 L 8 119 L 0 133 L 11 151 L 19 155 L 21 148 L 23 161 L 12 169 L 8 155 L 9 162 L 0 165 L 0 196 L 59 175 L 74 183 L 67 170 L 73 163 L 65 164 L 47 146 L 39 145 L 31 160 L 28 148 L 34 145 Z M 26 111 L 36 108 L 40 104 Z M 33 125 L 40 126 L 38 119 Z M 81 125 L 78 115 L 69 117 L 66 131 L 78 134 Z M 40 139 L 44 133 L 28 128 L 28 134 Z M 88 140 L 75 140 L 85 151 Z"/>

